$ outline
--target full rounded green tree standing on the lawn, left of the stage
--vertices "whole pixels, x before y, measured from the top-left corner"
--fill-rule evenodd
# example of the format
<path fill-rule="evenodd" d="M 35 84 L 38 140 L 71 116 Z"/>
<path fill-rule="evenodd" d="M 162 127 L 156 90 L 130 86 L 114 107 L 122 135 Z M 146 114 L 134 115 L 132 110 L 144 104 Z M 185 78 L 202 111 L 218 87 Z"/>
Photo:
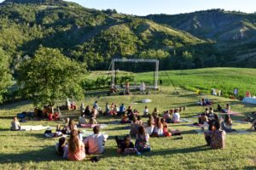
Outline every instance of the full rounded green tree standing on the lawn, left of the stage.
<path fill-rule="evenodd" d="M 55 105 L 68 97 L 81 99 L 84 94 L 80 83 L 82 66 L 58 49 L 39 48 L 33 59 L 20 64 L 18 73 L 21 94 L 36 106 Z"/>

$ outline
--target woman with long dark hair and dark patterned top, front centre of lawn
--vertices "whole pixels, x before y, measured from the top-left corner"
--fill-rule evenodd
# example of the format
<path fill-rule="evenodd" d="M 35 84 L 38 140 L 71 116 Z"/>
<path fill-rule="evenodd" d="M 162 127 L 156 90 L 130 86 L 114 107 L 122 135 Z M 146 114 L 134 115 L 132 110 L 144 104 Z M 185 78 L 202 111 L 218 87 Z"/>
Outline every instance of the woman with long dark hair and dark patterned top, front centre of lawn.
<path fill-rule="evenodd" d="M 145 133 L 145 129 L 142 126 L 138 127 L 135 146 L 140 152 L 150 151 L 149 135 Z"/>

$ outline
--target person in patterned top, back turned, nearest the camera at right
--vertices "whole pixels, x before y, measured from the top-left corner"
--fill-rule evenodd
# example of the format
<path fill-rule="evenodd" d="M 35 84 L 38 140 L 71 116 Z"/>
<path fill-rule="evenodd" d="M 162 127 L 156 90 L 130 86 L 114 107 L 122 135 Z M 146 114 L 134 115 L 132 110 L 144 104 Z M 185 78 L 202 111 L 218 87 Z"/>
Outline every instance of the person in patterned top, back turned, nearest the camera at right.
<path fill-rule="evenodd" d="M 207 145 L 209 145 L 212 149 L 224 149 L 226 133 L 219 128 L 219 122 L 213 121 L 210 123 L 209 131 L 204 133 Z"/>

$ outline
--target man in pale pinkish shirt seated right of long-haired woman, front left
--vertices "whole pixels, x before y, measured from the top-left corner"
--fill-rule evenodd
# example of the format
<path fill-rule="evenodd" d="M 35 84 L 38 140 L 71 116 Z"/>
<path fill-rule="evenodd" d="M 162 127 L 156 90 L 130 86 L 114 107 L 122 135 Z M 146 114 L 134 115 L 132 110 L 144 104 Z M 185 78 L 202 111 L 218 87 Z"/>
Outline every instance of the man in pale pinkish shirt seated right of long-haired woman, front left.
<path fill-rule="evenodd" d="M 99 126 L 93 127 L 93 133 L 84 139 L 86 153 L 88 152 L 90 155 L 102 154 L 108 135 L 100 133 Z"/>

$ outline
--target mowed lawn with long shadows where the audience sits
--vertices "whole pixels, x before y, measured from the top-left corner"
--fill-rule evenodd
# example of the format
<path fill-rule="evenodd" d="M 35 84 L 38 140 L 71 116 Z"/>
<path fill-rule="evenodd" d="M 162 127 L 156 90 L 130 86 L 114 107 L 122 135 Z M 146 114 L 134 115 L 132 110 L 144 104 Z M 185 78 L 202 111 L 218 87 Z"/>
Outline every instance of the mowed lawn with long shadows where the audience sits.
<path fill-rule="evenodd" d="M 160 112 L 167 109 L 186 106 L 181 116 L 196 122 L 195 116 L 205 110 L 205 107 L 195 105 L 201 97 L 207 97 L 217 104 L 230 103 L 231 110 L 241 112 L 243 116 L 232 116 L 235 120 L 242 120 L 255 105 L 244 105 L 238 100 L 225 99 L 212 95 L 196 95 L 195 92 L 178 88 L 178 95 L 173 94 L 173 88 L 162 88 L 162 91 L 152 92 L 150 95 L 131 94 L 129 96 L 87 96 L 84 101 L 77 101 L 77 105 L 84 102 L 92 105 L 98 100 L 104 109 L 106 102 L 126 108 L 132 105 L 138 111 L 143 111 L 145 104 L 142 99 L 151 99 L 148 104 L 149 111 L 157 107 Z M 64 103 L 64 102 L 63 102 Z M 84 161 L 66 161 L 55 155 L 55 143 L 58 139 L 44 138 L 44 131 L 9 131 L 12 117 L 21 111 L 32 111 L 29 102 L 1 105 L 0 107 L 0 169 L 255 169 L 256 168 L 256 133 L 232 133 L 226 136 L 224 150 L 210 150 L 205 146 L 203 134 L 195 133 L 196 127 L 185 126 L 188 123 L 171 124 L 170 128 L 183 132 L 183 139 L 151 138 L 149 139 L 152 151 L 142 156 L 122 156 L 116 154 L 115 135 L 124 136 L 129 133 L 128 125 L 116 124 L 116 119 L 110 116 L 101 116 L 98 122 L 108 124 L 102 132 L 108 133 L 109 138 L 102 159 L 92 163 L 89 159 Z M 62 111 L 63 116 L 73 116 L 78 119 L 79 111 Z M 143 119 L 146 122 L 146 119 Z M 192 123 L 190 122 L 190 123 Z M 28 121 L 22 125 L 45 125 L 54 127 L 62 122 Z M 234 123 L 234 128 L 246 130 L 249 124 Z M 134 139 L 132 139 L 135 142 Z"/>

